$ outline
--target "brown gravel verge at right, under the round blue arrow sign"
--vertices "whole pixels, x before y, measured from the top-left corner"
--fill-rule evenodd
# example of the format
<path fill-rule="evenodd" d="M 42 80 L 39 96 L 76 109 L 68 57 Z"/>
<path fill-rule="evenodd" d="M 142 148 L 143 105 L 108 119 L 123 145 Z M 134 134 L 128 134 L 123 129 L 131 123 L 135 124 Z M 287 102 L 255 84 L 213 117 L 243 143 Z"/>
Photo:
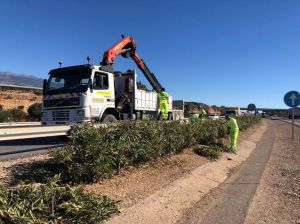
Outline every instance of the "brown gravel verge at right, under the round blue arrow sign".
<path fill-rule="evenodd" d="M 273 121 L 273 151 L 252 200 L 245 224 L 300 223 L 300 128 Z"/>

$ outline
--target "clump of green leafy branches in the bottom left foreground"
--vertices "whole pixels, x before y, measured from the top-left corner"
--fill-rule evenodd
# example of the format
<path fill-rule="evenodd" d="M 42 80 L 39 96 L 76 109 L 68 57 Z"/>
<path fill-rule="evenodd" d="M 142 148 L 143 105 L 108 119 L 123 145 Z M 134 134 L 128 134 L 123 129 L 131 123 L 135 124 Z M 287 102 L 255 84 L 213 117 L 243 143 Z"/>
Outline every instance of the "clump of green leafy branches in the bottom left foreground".
<path fill-rule="evenodd" d="M 56 176 L 46 184 L 0 184 L 0 223 L 99 223 L 118 212 L 106 196 L 62 186 Z"/>

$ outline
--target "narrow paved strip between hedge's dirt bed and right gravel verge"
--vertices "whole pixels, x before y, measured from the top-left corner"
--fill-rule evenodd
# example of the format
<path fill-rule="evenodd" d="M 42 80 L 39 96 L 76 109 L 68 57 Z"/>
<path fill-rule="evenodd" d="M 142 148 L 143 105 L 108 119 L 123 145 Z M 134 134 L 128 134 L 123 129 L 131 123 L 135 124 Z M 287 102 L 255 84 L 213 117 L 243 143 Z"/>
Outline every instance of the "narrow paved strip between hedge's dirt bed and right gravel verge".
<path fill-rule="evenodd" d="M 220 187 L 187 210 L 178 223 L 244 223 L 275 140 L 273 124 L 269 125 L 249 158 Z"/>

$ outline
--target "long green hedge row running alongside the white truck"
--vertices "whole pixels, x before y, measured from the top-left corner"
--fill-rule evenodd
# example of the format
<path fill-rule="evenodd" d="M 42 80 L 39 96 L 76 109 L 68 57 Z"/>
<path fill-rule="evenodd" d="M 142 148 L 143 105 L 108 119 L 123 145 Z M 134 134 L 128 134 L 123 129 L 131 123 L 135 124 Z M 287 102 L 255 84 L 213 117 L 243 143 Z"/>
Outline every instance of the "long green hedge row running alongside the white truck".
<path fill-rule="evenodd" d="M 260 117 L 243 116 L 237 121 L 242 130 Z M 93 182 L 128 165 L 176 153 L 197 144 L 218 144 L 228 128 L 225 120 L 195 123 L 135 121 L 95 127 L 83 124 L 72 129 L 72 142 L 54 152 L 51 162 L 59 163 L 63 181 Z"/>

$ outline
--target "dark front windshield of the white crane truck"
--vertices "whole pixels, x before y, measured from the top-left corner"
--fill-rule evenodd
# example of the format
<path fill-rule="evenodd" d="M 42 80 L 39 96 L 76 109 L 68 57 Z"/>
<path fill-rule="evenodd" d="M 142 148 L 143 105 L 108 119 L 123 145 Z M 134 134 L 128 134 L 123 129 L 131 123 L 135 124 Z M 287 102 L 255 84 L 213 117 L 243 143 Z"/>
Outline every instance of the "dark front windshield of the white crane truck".
<path fill-rule="evenodd" d="M 62 70 L 51 73 L 45 92 L 46 94 L 85 92 L 88 89 L 90 78 L 90 69 Z"/>

